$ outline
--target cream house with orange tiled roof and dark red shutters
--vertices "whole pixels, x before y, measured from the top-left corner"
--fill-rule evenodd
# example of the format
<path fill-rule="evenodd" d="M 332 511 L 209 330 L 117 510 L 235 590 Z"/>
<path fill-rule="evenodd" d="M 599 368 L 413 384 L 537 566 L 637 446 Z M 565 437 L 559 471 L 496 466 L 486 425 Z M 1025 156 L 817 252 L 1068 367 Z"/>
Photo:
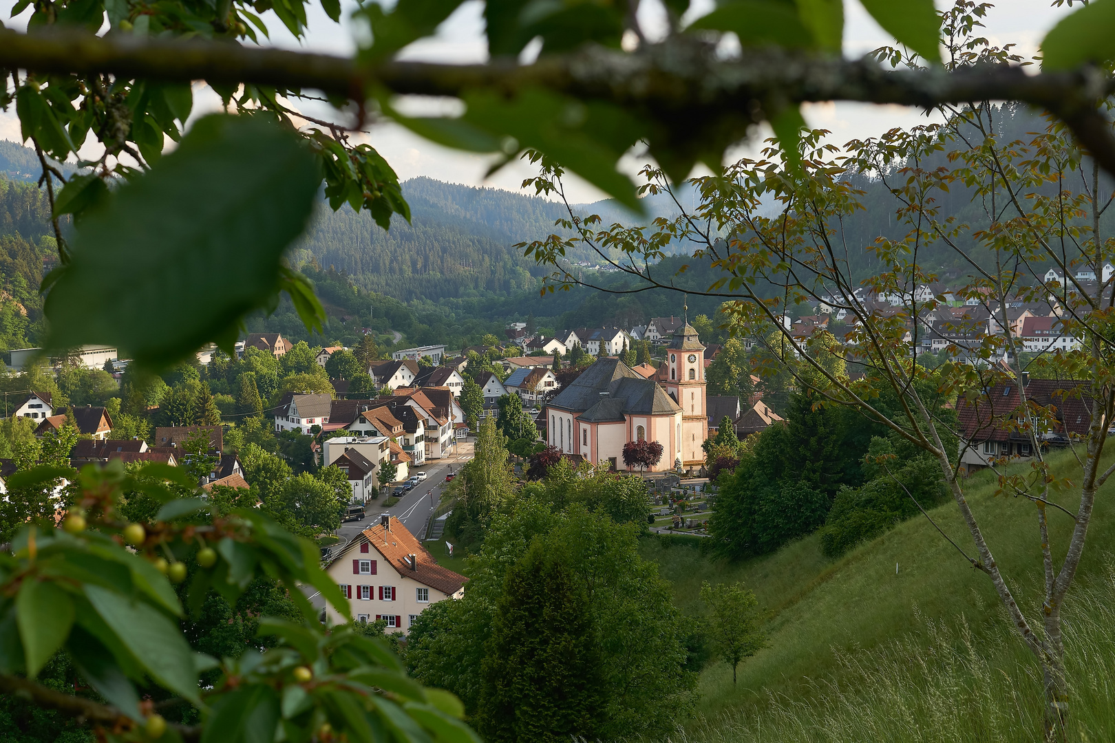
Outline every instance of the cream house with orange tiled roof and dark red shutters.
<path fill-rule="evenodd" d="M 404 634 L 430 604 L 462 598 L 468 580 L 438 565 L 401 521 L 386 514 L 326 569 L 348 598 L 357 622 L 384 619 L 389 632 Z M 343 622 L 332 607 L 324 612 L 327 620 Z"/>

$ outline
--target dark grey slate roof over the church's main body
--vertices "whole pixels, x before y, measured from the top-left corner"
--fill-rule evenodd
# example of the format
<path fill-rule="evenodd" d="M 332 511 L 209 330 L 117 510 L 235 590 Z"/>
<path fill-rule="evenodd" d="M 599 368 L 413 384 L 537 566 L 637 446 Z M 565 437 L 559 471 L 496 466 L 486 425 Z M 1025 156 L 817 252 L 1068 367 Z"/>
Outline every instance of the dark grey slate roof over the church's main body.
<path fill-rule="evenodd" d="M 621 421 L 628 414 L 672 414 L 681 410 L 657 382 L 619 359 L 601 359 L 550 401 L 551 408 L 581 413 L 589 422 Z"/>

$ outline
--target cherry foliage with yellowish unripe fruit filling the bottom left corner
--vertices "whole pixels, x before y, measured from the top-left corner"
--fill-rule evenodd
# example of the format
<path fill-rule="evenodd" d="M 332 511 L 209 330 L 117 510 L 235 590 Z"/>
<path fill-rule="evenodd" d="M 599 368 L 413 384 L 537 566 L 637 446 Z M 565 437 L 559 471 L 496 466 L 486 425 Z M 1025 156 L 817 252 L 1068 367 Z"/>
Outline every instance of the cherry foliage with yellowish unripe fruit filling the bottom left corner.
<path fill-rule="evenodd" d="M 72 472 L 39 468 L 10 480 L 30 487 L 65 476 Z M 4 692 L 115 741 L 476 740 L 457 720 L 459 702 L 407 678 L 382 641 L 318 620 L 302 586 L 345 616 L 348 602 L 309 540 L 254 509 L 220 511 L 192 495 L 194 480 L 178 468 L 89 466 L 79 486 L 62 528 L 37 518 L 0 555 Z M 146 524 L 129 524 L 118 509 L 124 492 L 162 506 Z M 196 627 L 213 596 L 235 606 L 259 578 L 283 586 L 297 620 L 254 617 L 258 634 L 272 638 L 266 653 L 195 652 L 180 622 Z M 186 586 L 181 597 L 174 584 Z M 35 681 L 59 652 L 91 695 L 59 697 Z"/>

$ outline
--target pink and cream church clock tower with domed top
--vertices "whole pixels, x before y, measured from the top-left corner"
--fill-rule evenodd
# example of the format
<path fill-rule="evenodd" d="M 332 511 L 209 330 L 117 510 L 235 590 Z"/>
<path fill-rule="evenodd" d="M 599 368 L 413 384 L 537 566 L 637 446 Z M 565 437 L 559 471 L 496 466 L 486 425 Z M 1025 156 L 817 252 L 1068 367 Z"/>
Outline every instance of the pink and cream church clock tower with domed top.
<path fill-rule="evenodd" d="M 681 466 L 700 467 L 705 463 L 701 444 L 708 438 L 708 410 L 705 407 L 705 346 L 697 331 L 686 322 L 675 331 L 673 341 L 666 350 L 668 379 L 662 388 L 681 407 L 680 439 Z"/>

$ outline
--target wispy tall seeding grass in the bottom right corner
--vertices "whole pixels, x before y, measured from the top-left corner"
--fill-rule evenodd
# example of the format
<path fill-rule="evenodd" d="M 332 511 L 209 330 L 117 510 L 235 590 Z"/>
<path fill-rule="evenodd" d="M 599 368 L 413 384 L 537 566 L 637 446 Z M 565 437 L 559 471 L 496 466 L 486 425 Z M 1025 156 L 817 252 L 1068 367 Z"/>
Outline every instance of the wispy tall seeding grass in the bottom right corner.
<path fill-rule="evenodd" d="M 1069 602 L 1065 643 L 1072 685 L 1069 740 L 1115 733 L 1115 567 Z M 838 673 L 811 694 L 766 693 L 747 710 L 701 718 L 671 743 L 816 741 L 1040 741 L 1041 678 L 1032 656 L 999 623 L 977 639 L 912 613 L 908 636 L 870 651 L 835 649 Z M 838 680 L 838 681 L 834 681 Z"/>

